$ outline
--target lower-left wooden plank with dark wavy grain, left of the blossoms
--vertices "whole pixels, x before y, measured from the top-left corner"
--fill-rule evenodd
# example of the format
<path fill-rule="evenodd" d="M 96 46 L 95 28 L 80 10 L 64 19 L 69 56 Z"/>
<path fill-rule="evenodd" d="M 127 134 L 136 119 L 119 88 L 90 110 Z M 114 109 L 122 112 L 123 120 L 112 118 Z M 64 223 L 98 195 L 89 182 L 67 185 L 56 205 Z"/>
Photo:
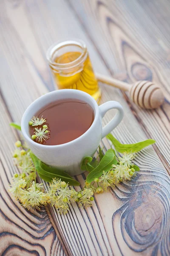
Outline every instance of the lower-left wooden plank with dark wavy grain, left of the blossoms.
<path fill-rule="evenodd" d="M 1 97 L 0 109 L 0 255 L 64 256 L 45 208 L 28 211 L 8 192 L 11 177 L 18 173 L 11 157 L 18 134 L 9 126 L 11 117 Z"/>

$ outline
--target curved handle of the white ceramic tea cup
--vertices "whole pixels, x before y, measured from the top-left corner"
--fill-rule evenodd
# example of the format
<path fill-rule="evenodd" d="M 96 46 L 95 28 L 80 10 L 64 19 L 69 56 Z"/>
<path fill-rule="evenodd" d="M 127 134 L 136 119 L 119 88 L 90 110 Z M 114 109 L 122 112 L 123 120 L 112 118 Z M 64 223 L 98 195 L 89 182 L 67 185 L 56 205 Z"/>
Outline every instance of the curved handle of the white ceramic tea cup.
<path fill-rule="evenodd" d="M 100 116 L 103 118 L 105 116 L 105 113 L 112 108 L 116 108 L 118 112 L 113 117 L 113 119 L 111 119 L 111 121 L 107 125 L 105 125 L 105 127 L 102 128 L 102 138 L 108 135 L 122 121 L 123 108 L 120 105 L 120 103 L 116 101 L 109 101 L 100 105 L 99 106 Z"/>

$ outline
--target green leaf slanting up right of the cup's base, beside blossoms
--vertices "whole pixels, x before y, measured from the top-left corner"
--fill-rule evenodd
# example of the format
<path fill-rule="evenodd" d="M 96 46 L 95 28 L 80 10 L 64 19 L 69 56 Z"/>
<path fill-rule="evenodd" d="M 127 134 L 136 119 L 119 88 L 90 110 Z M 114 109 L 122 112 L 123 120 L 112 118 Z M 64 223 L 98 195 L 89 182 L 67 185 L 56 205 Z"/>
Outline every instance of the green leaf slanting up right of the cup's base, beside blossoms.
<path fill-rule="evenodd" d="M 95 178 L 99 178 L 103 174 L 103 171 L 108 172 L 112 168 L 112 164 L 116 163 L 117 160 L 115 158 L 114 150 L 112 148 L 108 149 L 99 165 L 87 176 L 87 182 L 91 183 Z"/>

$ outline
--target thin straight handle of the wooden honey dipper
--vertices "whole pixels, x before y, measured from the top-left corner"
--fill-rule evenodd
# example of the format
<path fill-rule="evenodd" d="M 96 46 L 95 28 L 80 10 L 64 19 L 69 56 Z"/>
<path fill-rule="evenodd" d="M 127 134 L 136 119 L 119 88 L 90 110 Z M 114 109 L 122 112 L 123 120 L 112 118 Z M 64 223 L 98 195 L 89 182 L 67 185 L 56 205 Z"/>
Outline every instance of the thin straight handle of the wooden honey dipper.
<path fill-rule="evenodd" d="M 99 73 L 96 73 L 96 79 L 100 82 L 113 85 L 114 87 L 117 87 L 121 90 L 128 91 L 130 90 L 131 85 L 127 84 L 125 82 L 119 81 L 117 79 L 114 79 L 110 76 L 105 76 Z"/>

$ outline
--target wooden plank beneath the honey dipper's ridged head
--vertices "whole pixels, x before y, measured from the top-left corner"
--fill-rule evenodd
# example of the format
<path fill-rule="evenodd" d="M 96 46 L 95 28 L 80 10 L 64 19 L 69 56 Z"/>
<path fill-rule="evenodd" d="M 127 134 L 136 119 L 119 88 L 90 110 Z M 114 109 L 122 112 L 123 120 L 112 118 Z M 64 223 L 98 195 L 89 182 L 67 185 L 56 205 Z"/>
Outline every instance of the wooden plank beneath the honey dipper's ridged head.
<path fill-rule="evenodd" d="M 130 82 L 153 80 L 164 90 L 166 98 L 164 105 L 151 111 L 137 107 L 128 99 L 127 94 L 122 93 L 122 96 L 130 105 L 147 137 L 153 137 L 156 140 L 155 149 L 169 172 L 170 86 L 168 77 L 170 67 L 166 59 L 164 61 L 168 52 L 166 47 L 162 49 L 158 40 L 161 37 L 163 41 L 162 32 L 155 23 L 150 22 L 147 13 L 142 9 L 143 1 L 139 2 L 140 6 L 137 1 L 121 0 L 118 3 L 111 0 L 83 2 L 68 0 L 89 38 L 105 59 L 105 63 L 109 65 L 111 74 L 124 70 L 127 73 L 124 80 Z M 151 4 L 154 5 L 153 2 Z M 164 1 L 164 6 L 166 6 L 166 1 Z M 137 15 L 147 22 L 139 22 Z M 149 30 L 148 23 L 154 27 L 152 31 Z M 164 40 L 165 44 L 168 44 L 166 40 Z"/>

